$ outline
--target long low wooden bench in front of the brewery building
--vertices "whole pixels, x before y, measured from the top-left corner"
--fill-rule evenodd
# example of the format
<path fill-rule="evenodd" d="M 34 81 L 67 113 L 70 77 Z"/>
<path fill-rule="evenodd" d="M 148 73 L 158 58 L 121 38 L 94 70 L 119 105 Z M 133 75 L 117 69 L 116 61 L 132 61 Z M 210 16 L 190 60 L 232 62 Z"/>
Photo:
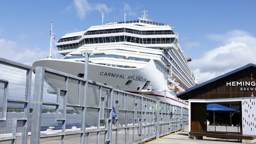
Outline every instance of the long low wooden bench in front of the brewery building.
<path fill-rule="evenodd" d="M 242 143 L 253 144 L 256 142 L 256 135 L 243 135 L 241 133 L 215 132 L 215 131 L 190 131 L 189 138 L 202 139 L 205 137 L 241 139 Z"/>

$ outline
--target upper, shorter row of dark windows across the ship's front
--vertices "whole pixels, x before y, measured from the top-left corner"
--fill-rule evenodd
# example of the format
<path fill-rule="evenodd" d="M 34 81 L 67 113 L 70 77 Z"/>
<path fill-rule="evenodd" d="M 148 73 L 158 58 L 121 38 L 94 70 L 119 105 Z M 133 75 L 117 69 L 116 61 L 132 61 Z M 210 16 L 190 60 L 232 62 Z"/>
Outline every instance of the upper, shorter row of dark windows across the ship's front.
<path fill-rule="evenodd" d="M 100 35 L 100 34 L 108 34 L 108 33 L 133 33 L 133 34 L 137 34 L 137 35 L 174 35 L 174 32 L 172 30 L 140 31 L 140 30 L 134 30 L 134 29 L 130 29 L 130 28 L 91 30 L 91 31 L 86 31 L 83 35 Z"/>

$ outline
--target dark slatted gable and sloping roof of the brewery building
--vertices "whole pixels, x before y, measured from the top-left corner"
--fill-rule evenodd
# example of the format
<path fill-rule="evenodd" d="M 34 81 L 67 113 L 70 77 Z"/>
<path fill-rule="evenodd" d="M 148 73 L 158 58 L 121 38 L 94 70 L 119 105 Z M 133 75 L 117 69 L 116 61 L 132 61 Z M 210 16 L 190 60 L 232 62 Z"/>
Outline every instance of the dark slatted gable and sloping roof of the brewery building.
<path fill-rule="evenodd" d="M 251 68 L 250 70 L 248 70 L 249 68 Z M 250 72 L 247 72 L 247 71 Z M 243 72 L 246 71 L 246 72 Z M 235 75 L 236 73 L 241 73 L 236 76 L 232 76 Z M 185 92 L 182 92 L 180 94 L 177 94 L 176 96 L 182 100 L 189 100 L 189 99 L 222 99 L 225 96 L 222 96 L 221 94 L 223 93 L 228 93 L 227 89 L 232 89 L 232 86 L 227 86 L 226 82 L 233 82 L 233 81 L 241 81 L 241 79 L 245 80 L 245 81 L 255 81 L 255 76 L 256 76 L 256 65 L 249 63 L 245 66 L 242 66 L 241 68 L 237 68 L 236 70 L 232 70 L 226 74 L 223 74 L 221 76 L 218 76 L 216 78 L 210 79 L 204 83 L 200 83 L 199 85 L 195 85 L 194 87 L 191 87 L 189 89 L 187 89 Z M 255 76 L 254 76 L 255 75 Z M 243 78 L 242 78 L 243 77 Z M 237 96 L 230 96 L 227 98 L 243 98 L 243 97 L 249 97 L 251 96 L 251 91 L 241 91 L 240 89 L 244 88 L 244 87 L 237 87 L 236 92 Z M 250 87 L 250 88 L 256 88 L 254 86 Z M 215 90 L 215 91 L 213 91 Z M 219 95 L 217 95 L 217 92 Z M 214 96 L 212 96 L 211 98 L 208 98 L 206 95 L 210 95 L 210 93 L 215 93 L 212 94 Z M 245 93 L 247 94 L 245 96 Z M 202 95 L 205 95 L 204 98 L 202 98 Z"/>

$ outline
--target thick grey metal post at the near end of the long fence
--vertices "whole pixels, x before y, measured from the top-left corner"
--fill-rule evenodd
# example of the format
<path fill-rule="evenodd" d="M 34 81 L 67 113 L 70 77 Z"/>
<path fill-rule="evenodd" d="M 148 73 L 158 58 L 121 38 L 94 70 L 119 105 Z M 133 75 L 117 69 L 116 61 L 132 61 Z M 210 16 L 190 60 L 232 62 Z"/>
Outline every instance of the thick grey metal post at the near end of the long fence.
<path fill-rule="evenodd" d="M 43 101 L 43 85 L 44 85 L 45 68 L 43 66 L 35 67 L 35 87 L 33 97 L 33 115 L 31 129 L 31 144 L 40 143 L 41 130 L 41 110 Z"/>

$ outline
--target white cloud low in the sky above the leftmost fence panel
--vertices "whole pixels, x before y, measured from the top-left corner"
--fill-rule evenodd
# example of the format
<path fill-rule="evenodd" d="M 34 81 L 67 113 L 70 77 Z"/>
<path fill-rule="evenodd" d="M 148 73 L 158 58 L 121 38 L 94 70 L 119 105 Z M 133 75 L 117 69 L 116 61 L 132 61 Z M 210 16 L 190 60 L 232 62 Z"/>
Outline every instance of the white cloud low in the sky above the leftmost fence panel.
<path fill-rule="evenodd" d="M 32 65 L 34 61 L 47 57 L 45 50 L 21 47 L 16 42 L 6 39 L 0 39 L 0 48 L 0 57 L 26 65 Z"/>

